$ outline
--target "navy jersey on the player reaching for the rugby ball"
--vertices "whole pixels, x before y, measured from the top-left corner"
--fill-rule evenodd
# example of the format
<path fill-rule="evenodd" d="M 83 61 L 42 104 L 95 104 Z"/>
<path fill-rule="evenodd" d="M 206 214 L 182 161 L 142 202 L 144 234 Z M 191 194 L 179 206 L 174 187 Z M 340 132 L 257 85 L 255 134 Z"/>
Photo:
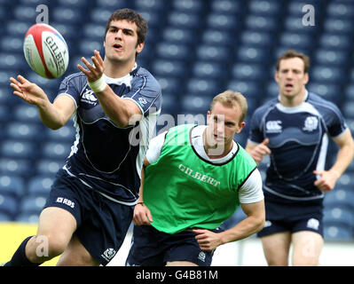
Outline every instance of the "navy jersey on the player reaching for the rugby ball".
<path fill-rule="evenodd" d="M 104 77 L 117 96 L 139 106 L 144 118 L 135 126 L 117 127 L 90 90 L 86 75 L 67 76 L 58 96 L 64 94 L 75 101 L 76 138 L 63 169 L 107 198 L 132 205 L 138 200 L 140 171 L 161 112 L 161 86 L 137 65 L 122 78 Z"/>

